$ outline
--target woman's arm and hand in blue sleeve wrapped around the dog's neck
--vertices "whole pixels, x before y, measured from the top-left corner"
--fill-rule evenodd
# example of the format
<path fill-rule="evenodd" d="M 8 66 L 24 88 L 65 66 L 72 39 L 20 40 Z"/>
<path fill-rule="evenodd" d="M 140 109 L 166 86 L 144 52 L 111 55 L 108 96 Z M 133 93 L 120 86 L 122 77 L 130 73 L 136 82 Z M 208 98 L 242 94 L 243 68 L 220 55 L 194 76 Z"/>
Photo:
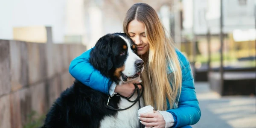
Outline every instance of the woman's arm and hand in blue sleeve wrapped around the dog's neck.
<path fill-rule="evenodd" d="M 122 86 L 116 86 L 115 82 L 112 82 L 107 77 L 102 76 L 99 70 L 94 69 L 93 65 L 89 62 L 90 51 L 91 49 L 71 61 L 69 67 L 70 74 L 75 79 L 81 81 L 84 85 L 102 93 L 113 96 L 113 94 L 115 94 L 114 92 L 116 92 L 125 97 L 131 96 L 135 89 L 134 85 L 127 83 Z M 137 81 L 136 83 L 140 84 L 140 82 L 141 81 Z M 141 88 L 140 85 L 138 85 L 138 87 Z"/>

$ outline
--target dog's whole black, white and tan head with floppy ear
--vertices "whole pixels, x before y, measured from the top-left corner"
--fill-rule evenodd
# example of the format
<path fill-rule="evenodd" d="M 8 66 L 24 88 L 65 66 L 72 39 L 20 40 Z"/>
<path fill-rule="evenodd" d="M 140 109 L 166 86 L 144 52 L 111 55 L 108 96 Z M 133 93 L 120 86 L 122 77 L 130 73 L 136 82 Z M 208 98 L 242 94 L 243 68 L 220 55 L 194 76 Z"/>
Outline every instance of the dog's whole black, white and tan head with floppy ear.
<path fill-rule="evenodd" d="M 107 34 L 90 52 L 90 63 L 117 84 L 140 79 L 144 61 L 136 55 L 134 42 L 124 33 Z"/>

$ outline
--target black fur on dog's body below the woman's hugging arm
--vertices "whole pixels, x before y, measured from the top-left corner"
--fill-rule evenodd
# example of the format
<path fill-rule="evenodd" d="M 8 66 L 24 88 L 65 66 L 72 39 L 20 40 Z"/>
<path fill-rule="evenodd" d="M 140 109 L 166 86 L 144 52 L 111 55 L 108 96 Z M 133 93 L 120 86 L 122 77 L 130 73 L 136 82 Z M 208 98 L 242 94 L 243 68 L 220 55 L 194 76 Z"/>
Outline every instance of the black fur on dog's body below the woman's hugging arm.
<path fill-rule="evenodd" d="M 113 96 L 109 104 L 118 108 L 119 100 Z M 99 128 L 104 116 L 117 113 L 105 108 L 107 101 L 106 94 L 75 81 L 52 105 L 43 128 Z"/>

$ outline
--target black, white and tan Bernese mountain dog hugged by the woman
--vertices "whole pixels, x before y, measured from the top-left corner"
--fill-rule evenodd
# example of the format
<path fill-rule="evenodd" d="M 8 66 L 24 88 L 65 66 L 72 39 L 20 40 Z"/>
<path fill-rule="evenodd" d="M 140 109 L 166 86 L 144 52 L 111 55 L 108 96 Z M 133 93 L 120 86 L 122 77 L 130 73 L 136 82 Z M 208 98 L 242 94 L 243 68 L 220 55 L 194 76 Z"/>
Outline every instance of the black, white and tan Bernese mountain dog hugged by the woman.
<path fill-rule="evenodd" d="M 119 86 L 140 80 L 144 62 L 136 55 L 134 42 L 124 33 L 108 34 L 100 38 L 90 52 L 90 63 L 102 75 Z M 125 111 L 105 107 L 109 96 L 75 81 L 61 93 L 47 113 L 43 128 L 139 128 L 137 102 Z M 137 94 L 130 100 L 135 100 Z M 141 107 L 143 100 L 141 98 Z M 108 105 L 128 108 L 133 103 L 120 96 L 111 97 Z"/>

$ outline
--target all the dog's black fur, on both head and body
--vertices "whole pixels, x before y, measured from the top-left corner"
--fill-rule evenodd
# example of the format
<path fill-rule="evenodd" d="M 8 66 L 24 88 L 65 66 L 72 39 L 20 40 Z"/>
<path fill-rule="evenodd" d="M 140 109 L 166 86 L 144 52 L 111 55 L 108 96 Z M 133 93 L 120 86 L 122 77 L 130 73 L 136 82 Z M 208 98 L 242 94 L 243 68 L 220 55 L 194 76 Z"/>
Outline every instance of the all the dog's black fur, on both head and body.
<path fill-rule="evenodd" d="M 127 46 L 119 35 L 131 40 L 123 33 L 108 34 L 100 38 L 90 52 L 93 67 L 115 82 L 119 82 L 119 78 L 114 73 L 124 65 L 126 59 L 126 55 L 119 55 L 124 50 L 122 47 Z M 54 102 L 42 128 L 99 128 L 105 116 L 115 117 L 117 114 L 117 111 L 105 108 L 107 101 L 108 95 L 76 80 Z M 113 96 L 109 105 L 118 108 L 119 102 L 120 97 Z"/>

